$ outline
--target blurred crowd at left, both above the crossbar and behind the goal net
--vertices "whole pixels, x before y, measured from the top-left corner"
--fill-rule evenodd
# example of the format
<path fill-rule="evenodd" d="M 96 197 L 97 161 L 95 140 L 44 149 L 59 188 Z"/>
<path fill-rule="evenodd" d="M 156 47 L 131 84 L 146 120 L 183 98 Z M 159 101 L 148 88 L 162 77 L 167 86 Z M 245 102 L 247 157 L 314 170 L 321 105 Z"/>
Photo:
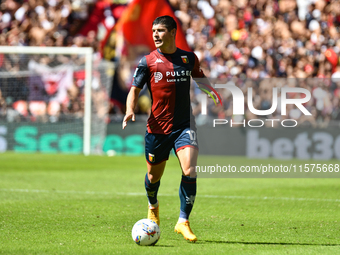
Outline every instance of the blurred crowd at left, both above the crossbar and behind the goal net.
<path fill-rule="evenodd" d="M 100 41 L 96 33 L 79 34 L 94 4 L 92 0 L 1 1 L 0 46 L 92 47 L 98 64 Z M 80 55 L 29 58 L 23 54 L 0 54 L 0 119 L 55 122 L 82 118 L 84 63 L 85 58 Z M 60 73 L 53 67 L 58 67 Z M 44 70 L 44 74 L 39 70 Z M 93 87 L 99 87 L 98 80 L 94 78 Z M 96 106 L 101 92 L 97 88 L 93 92 Z"/>

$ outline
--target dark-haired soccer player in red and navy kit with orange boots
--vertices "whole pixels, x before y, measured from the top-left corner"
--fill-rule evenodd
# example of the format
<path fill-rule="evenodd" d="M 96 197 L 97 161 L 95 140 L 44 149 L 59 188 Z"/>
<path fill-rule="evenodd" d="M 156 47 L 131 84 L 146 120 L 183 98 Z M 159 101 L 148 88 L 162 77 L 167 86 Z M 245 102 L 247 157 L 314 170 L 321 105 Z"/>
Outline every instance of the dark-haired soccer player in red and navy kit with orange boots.
<path fill-rule="evenodd" d="M 135 121 L 138 95 L 146 83 L 152 99 L 145 134 L 148 219 L 160 224 L 157 192 L 169 153 L 174 149 L 182 168 L 180 213 L 175 232 L 182 234 L 186 240 L 196 242 L 197 238 L 189 225 L 189 215 L 196 196 L 198 143 L 189 91 L 190 76 L 194 79 L 206 78 L 197 56 L 177 48 L 176 30 L 176 22 L 170 16 L 154 20 L 152 34 L 157 49 L 144 56 L 136 68 L 133 86 L 127 97 L 123 129 L 129 120 Z"/>

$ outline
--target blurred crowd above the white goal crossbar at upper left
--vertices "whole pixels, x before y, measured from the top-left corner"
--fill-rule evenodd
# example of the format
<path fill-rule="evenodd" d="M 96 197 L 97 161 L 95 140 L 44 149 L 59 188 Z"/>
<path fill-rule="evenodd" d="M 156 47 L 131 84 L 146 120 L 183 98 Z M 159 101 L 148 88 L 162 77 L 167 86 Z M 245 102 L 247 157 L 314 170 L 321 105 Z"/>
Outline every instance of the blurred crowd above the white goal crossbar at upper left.
<path fill-rule="evenodd" d="M 92 0 L 4 0 L 0 5 L 0 45 L 93 46 L 96 35 L 77 33 L 89 17 Z"/>

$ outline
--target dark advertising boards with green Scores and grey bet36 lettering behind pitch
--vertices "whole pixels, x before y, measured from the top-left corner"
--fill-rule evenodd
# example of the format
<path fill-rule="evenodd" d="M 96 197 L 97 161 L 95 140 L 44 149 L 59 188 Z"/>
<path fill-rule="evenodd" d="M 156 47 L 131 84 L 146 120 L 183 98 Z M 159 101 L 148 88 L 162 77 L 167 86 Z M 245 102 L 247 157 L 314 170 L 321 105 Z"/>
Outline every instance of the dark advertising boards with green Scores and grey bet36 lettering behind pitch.
<path fill-rule="evenodd" d="M 63 125 L 63 128 L 60 127 Z M 65 125 L 68 127 L 65 128 Z M 82 153 L 83 133 L 69 123 L 0 122 L 0 152 Z M 278 159 L 340 159 L 338 128 L 198 128 L 200 154 Z M 65 132 L 67 130 L 67 132 Z M 72 131 L 73 130 L 73 131 Z M 109 124 L 104 143 L 92 136 L 91 147 L 110 155 L 143 155 L 145 123 Z"/>

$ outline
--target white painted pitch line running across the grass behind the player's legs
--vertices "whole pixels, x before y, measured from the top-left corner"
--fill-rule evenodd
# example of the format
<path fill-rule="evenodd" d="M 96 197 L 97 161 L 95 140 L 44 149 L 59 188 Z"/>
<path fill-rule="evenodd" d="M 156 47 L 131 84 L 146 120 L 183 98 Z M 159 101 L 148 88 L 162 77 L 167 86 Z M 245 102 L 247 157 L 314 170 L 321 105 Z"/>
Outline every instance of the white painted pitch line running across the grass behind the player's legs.
<path fill-rule="evenodd" d="M 118 196 L 145 196 L 145 193 L 137 192 L 105 192 L 105 191 L 75 191 L 75 190 L 42 190 L 42 189 L 0 189 L 7 192 L 26 193 L 65 193 L 65 194 L 90 194 L 90 195 L 118 195 Z M 176 197 L 177 194 L 158 194 L 162 197 Z M 245 199 L 245 200 L 288 200 L 288 201 L 314 201 L 314 202 L 340 202 L 340 199 L 327 198 L 301 198 L 301 197 L 249 197 L 249 196 L 219 196 L 197 195 L 204 198 Z"/>

